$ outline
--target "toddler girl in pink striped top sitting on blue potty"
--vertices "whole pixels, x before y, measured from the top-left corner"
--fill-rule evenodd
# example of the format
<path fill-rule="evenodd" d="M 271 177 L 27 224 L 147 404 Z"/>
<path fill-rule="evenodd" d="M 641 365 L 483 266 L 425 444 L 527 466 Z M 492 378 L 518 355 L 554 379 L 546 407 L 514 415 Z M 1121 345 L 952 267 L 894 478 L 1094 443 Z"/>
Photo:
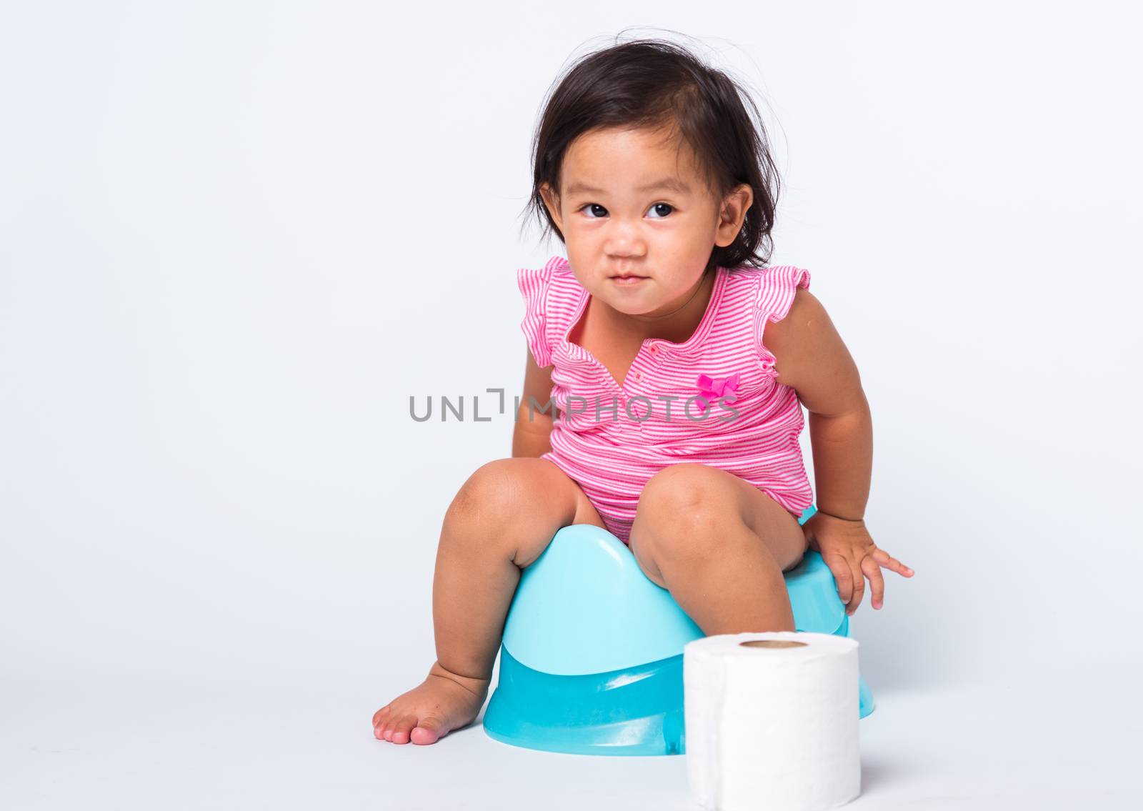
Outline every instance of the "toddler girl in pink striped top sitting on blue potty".
<path fill-rule="evenodd" d="M 809 272 L 767 264 L 778 182 L 756 119 L 725 73 L 656 40 L 583 57 L 551 94 L 530 205 L 567 259 L 518 271 L 512 456 L 446 510 L 437 661 L 377 710 L 376 738 L 432 744 L 475 719 L 520 572 L 570 524 L 614 533 L 706 635 L 793 630 L 783 572 L 807 549 L 850 614 L 866 578 L 881 607 L 881 567 L 913 574 L 863 520 L 872 423 L 854 360 Z"/>

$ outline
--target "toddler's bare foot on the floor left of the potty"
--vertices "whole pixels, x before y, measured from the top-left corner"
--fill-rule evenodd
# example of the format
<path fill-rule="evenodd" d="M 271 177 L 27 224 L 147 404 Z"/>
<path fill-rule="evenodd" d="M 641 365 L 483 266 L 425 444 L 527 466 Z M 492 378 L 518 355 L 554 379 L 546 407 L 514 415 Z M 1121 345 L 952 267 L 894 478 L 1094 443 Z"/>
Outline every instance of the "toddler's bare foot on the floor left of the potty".
<path fill-rule="evenodd" d="M 433 662 L 424 682 L 374 714 L 373 734 L 393 744 L 435 744 L 475 719 L 489 681 L 459 676 Z"/>

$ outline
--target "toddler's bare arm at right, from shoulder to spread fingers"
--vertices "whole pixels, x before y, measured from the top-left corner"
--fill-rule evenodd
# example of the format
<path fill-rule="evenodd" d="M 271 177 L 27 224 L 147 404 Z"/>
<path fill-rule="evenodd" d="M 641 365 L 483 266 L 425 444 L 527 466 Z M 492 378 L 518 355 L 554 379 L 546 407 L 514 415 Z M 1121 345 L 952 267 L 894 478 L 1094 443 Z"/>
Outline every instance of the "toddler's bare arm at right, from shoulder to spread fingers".
<path fill-rule="evenodd" d="M 775 357 L 778 382 L 792 387 L 809 411 L 818 508 L 802 525 L 809 546 L 833 572 L 848 613 L 861 603 L 864 578 L 873 589 L 873 607 L 880 609 L 880 566 L 906 578 L 913 570 L 879 549 L 865 527 L 873 426 L 857 366 L 825 308 L 800 287 L 786 317 L 766 325 L 762 344 Z"/>

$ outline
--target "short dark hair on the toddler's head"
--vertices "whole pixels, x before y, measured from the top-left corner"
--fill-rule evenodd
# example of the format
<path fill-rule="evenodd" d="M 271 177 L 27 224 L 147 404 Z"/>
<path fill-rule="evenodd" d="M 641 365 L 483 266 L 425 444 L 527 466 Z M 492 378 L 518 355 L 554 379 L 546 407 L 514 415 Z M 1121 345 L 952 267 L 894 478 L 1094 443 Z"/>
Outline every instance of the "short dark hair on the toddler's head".
<path fill-rule="evenodd" d="M 674 125 L 694 150 L 714 199 L 740 183 L 753 190 L 742 230 L 730 245 L 714 246 L 708 269 L 757 268 L 769 261 L 778 173 L 758 108 L 726 73 L 674 42 L 638 39 L 588 54 L 553 86 L 533 138 L 531 197 L 525 209 L 546 225 L 542 236 L 554 232 L 563 241 L 539 188 L 547 182 L 559 191 L 563 156 L 576 137 L 600 127 Z"/>

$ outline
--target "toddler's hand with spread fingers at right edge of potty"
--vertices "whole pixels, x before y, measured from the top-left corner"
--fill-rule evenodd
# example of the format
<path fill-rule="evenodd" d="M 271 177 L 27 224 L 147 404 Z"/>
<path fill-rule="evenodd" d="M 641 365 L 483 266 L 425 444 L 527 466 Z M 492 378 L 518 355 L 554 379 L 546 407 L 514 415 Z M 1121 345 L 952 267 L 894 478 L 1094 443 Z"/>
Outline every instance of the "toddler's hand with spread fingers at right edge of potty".
<path fill-rule="evenodd" d="M 833 572 L 838 596 L 846 604 L 846 614 L 857 611 L 862 595 L 865 594 L 865 578 L 869 578 L 870 586 L 873 587 L 873 607 L 880 609 L 885 604 L 881 566 L 905 578 L 913 577 L 913 570 L 889 557 L 889 552 L 873 543 L 864 520 L 836 518 L 818 511 L 801 528 L 809 548 L 820 552 L 825 565 Z"/>

